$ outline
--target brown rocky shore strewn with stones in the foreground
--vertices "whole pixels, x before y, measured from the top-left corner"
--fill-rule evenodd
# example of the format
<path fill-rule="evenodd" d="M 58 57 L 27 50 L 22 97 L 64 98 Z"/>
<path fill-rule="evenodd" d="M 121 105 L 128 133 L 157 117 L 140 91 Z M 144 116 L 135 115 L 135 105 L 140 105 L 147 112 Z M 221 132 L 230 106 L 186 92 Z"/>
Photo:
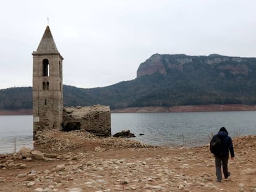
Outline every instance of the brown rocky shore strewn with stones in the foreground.
<path fill-rule="evenodd" d="M 0 155 L 0 191 L 256 191 L 256 136 L 233 140 L 231 177 L 219 183 L 209 146 L 153 147 L 51 130 L 34 150 Z"/>

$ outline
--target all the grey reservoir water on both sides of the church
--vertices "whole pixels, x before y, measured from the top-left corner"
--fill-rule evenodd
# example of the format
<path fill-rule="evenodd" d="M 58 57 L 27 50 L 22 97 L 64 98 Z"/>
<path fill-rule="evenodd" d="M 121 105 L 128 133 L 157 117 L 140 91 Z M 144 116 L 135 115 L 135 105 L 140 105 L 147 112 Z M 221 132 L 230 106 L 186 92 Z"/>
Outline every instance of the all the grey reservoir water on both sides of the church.
<path fill-rule="evenodd" d="M 0 154 L 33 148 L 32 115 L 0 116 Z M 161 146 L 200 146 L 226 127 L 231 137 L 256 135 L 256 111 L 111 114 L 111 133 L 130 130 L 134 140 Z"/>

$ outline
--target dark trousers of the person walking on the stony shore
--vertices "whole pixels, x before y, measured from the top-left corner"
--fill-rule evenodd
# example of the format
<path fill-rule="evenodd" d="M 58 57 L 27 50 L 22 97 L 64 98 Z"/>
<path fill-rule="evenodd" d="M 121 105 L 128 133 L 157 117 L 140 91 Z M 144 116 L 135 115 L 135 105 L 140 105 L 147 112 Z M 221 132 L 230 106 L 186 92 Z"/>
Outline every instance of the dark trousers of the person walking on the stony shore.
<path fill-rule="evenodd" d="M 222 179 L 221 164 L 222 164 L 224 177 L 228 178 L 228 157 L 215 156 L 216 177 L 217 177 L 217 180 L 219 181 L 221 181 Z"/>

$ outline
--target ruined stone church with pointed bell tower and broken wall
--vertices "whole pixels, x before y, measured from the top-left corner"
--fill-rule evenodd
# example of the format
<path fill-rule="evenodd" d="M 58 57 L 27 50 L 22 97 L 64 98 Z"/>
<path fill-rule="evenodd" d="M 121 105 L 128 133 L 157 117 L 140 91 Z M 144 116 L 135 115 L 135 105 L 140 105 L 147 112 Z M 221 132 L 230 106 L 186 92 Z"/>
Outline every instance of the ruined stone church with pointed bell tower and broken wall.
<path fill-rule="evenodd" d="M 33 51 L 33 136 L 47 129 L 69 130 L 69 125 L 96 133 L 111 135 L 111 117 L 108 106 L 77 107 L 67 110 L 63 107 L 62 61 L 53 40 L 49 26 Z M 77 110 L 78 109 L 78 110 Z M 79 114 L 79 118 L 77 115 Z M 66 118 L 66 119 L 64 119 Z M 72 129 L 72 128 L 71 128 Z"/>

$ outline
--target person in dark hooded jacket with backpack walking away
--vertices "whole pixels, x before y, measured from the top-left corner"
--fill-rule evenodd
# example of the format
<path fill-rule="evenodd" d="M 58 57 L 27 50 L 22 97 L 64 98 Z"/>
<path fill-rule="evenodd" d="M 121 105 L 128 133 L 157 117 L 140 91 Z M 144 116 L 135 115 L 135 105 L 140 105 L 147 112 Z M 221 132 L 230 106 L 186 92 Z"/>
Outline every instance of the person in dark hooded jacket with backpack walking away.
<path fill-rule="evenodd" d="M 228 178 L 230 176 L 230 172 L 228 172 L 229 152 L 231 154 L 231 159 L 234 159 L 234 148 L 232 139 L 230 136 L 228 136 L 228 131 L 226 130 L 226 128 L 221 127 L 217 135 L 213 136 L 210 142 L 210 151 L 215 156 L 215 169 L 217 177 L 216 181 L 221 182 L 221 164 L 224 178 Z"/>

